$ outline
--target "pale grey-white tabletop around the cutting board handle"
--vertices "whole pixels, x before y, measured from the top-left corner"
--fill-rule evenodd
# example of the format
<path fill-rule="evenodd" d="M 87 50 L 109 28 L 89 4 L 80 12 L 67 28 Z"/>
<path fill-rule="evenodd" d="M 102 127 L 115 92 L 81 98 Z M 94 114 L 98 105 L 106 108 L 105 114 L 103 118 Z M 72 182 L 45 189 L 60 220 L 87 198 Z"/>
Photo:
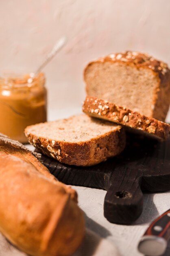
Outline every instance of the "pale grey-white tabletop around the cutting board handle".
<path fill-rule="evenodd" d="M 78 112 L 81 110 L 72 109 L 69 112 L 61 110 L 56 114 L 53 110 L 50 111 L 49 119 L 65 118 Z M 170 208 L 170 192 L 144 194 L 143 212 L 139 219 L 133 225 L 116 225 L 108 222 L 103 215 L 106 191 L 81 186 L 72 187 L 78 193 L 78 205 L 85 213 L 86 227 L 114 243 L 122 256 L 142 256 L 137 251 L 139 239 L 150 222 Z M 165 255 L 170 255 L 169 249 L 168 254 L 166 252 Z"/>

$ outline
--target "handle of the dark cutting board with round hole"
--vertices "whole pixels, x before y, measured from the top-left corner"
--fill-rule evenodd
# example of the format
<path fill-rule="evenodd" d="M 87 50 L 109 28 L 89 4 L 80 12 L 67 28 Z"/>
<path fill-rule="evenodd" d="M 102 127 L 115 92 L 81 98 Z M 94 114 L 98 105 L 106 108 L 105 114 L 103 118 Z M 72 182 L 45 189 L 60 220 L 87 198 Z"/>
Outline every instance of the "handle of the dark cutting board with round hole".
<path fill-rule="evenodd" d="M 107 191 L 104 202 L 104 215 L 107 220 L 116 224 L 129 225 L 140 216 L 143 208 L 143 194 L 139 183 L 133 182 L 132 186 L 112 184 Z"/>

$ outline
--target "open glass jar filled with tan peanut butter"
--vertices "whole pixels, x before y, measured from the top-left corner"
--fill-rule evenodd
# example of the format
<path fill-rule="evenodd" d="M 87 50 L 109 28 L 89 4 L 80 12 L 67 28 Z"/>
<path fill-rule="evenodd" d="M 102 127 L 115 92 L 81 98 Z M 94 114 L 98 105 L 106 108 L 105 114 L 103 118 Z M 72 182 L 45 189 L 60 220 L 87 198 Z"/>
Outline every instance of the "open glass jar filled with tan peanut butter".
<path fill-rule="evenodd" d="M 0 132 L 27 143 L 24 129 L 45 122 L 47 92 L 43 73 L 0 76 Z"/>

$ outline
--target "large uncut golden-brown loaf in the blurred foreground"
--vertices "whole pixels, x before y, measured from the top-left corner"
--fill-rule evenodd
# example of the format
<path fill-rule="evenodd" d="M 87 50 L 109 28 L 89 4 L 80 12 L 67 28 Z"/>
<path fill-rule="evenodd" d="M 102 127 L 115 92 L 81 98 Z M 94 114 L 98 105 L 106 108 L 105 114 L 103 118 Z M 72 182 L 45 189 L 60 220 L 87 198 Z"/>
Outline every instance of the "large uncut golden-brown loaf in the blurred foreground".
<path fill-rule="evenodd" d="M 0 231 L 32 256 L 71 255 L 85 231 L 76 192 L 5 136 L 0 136 Z"/>

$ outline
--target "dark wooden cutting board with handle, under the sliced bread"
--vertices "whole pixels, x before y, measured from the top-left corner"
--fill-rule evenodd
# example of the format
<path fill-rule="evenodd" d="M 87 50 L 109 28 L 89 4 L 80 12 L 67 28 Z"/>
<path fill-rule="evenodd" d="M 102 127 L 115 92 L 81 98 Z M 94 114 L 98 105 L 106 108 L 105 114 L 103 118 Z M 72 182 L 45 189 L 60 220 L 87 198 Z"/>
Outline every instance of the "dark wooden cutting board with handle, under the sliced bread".
<path fill-rule="evenodd" d="M 129 225 L 140 216 L 142 191 L 170 189 L 170 139 L 157 142 L 128 136 L 122 154 L 90 167 L 68 166 L 44 155 L 41 159 L 65 184 L 107 190 L 104 215 L 117 224 Z"/>

